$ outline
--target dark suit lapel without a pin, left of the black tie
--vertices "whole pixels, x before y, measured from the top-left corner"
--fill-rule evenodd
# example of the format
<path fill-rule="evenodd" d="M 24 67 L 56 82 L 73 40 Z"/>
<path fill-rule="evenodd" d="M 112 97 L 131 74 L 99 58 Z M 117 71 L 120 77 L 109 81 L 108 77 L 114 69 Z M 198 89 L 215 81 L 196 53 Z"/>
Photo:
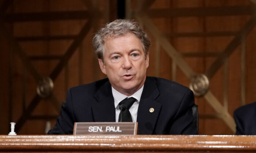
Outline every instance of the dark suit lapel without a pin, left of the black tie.
<path fill-rule="evenodd" d="M 92 106 L 94 122 L 115 122 L 116 110 L 110 82 L 103 84 L 94 97 L 98 101 Z"/>

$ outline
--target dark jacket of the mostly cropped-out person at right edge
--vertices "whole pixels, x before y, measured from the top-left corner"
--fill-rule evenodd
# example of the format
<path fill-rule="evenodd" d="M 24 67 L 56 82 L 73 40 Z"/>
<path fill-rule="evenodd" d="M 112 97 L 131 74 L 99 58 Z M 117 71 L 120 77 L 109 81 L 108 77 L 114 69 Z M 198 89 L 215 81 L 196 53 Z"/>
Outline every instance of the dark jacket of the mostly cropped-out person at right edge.
<path fill-rule="evenodd" d="M 256 102 L 236 109 L 234 119 L 237 135 L 256 135 Z"/>

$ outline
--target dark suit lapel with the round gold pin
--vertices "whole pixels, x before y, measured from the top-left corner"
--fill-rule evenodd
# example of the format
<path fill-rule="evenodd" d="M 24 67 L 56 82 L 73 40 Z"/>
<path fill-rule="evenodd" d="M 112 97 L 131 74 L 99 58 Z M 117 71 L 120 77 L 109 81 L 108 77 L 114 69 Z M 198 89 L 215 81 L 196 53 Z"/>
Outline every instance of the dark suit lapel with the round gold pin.
<path fill-rule="evenodd" d="M 138 108 L 138 134 L 153 134 L 155 123 L 157 122 L 162 106 L 160 103 L 155 101 L 158 96 L 159 90 L 156 83 L 151 78 L 147 77 Z M 154 109 L 153 112 L 151 108 Z"/>

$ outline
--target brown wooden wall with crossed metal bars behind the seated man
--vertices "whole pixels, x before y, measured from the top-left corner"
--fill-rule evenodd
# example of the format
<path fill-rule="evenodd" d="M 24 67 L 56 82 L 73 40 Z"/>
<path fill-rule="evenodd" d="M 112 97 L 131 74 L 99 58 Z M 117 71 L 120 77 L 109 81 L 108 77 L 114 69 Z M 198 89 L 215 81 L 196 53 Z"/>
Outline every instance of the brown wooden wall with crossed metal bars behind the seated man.
<path fill-rule="evenodd" d="M 45 134 L 68 88 L 105 78 L 91 42 L 117 18 L 135 19 L 150 35 L 148 76 L 193 87 L 199 134 L 234 134 L 233 111 L 256 101 L 255 4 L 0 0 L 0 134 L 10 122 L 18 134 Z"/>

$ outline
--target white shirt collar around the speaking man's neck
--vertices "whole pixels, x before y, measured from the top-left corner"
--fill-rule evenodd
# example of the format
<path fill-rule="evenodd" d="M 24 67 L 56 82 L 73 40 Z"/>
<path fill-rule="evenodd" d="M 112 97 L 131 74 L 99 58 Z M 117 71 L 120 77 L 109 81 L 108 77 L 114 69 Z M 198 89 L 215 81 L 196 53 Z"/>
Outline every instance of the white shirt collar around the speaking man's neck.
<path fill-rule="evenodd" d="M 130 95 L 130 96 L 127 96 L 127 95 L 124 95 L 124 94 L 121 94 L 119 93 L 116 89 L 114 89 L 112 86 L 112 94 L 113 94 L 113 97 L 114 97 L 114 105 L 115 105 L 115 108 L 117 108 L 118 104 L 124 100 L 125 98 L 130 98 L 130 97 L 133 97 L 136 99 L 135 102 L 139 103 L 140 102 L 140 97 L 142 95 L 142 91 L 143 91 L 143 87 L 144 85 L 138 90 L 136 91 L 136 93 Z"/>

